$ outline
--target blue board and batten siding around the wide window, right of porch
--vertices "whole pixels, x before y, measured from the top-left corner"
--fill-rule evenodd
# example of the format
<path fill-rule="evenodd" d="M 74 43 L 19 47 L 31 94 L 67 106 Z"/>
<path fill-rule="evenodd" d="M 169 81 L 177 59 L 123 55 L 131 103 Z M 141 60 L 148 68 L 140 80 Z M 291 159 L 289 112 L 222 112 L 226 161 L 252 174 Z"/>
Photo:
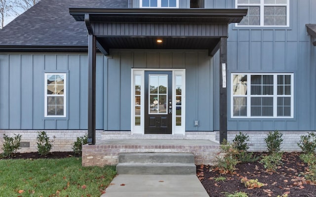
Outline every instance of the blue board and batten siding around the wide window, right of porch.
<path fill-rule="evenodd" d="M 316 23 L 316 12 L 313 10 L 316 0 L 290 0 L 289 6 L 289 27 L 229 26 L 228 130 L 316 130 L 316 47 L 305 27 L 305 24 Z M 234 0 L 205 1 L 205 8 L 233 7 Z M 213 61 L 214 65 L 219 64 L 218 58 Z M 216 79 L 216 73 L 219 73 L 217 66 L 214 66 L 214 72 Z M 294 118 L 230 118 L 230 74 L 235 72 L 294 73 Z M 218 91 L 216 86 L 215 92 Z M 219 100 L 214 97 L 214 106 L 218 105 Z M 219 130 L 219 116 L 215 113 L 214 130 Z"/>

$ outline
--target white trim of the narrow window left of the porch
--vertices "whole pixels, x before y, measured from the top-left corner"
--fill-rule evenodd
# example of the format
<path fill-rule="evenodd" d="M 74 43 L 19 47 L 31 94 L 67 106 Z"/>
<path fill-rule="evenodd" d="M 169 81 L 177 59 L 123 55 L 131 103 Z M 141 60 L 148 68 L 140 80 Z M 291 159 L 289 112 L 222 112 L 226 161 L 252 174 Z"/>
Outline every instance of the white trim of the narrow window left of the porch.
<path fill-rule="evenodd" d="M 62 96 L 64 97 L 64 115 L 58 116 L 58 115 L 47 115 L 47 76 L 48 75 L 62 75 L 64 76 L 64 94 L 63 95 L 58 95 L 56 94 L 55 96 Z M 66 73 L 44 73 L 44 117 L 66 117 L 66 109 L 67 109 L 67 74 Z"/>

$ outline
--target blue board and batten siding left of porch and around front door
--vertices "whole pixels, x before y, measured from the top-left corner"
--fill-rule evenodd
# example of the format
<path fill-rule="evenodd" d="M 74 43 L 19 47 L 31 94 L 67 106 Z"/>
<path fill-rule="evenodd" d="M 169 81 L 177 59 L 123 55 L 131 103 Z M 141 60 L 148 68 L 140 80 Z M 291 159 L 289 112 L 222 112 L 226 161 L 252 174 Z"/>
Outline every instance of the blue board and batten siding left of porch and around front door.
<path fill-rule="evenodd" d="M 130 130 L 131 68 L 185 68 L 186 130 L 213 128 L 207 50 L 117 50 L 96 60 L 96 128 Z M 66 118 L 44 118 L 44 73 L 67 73 Z M 0 129 L 87 129 L 87 55 L 1 54 Z M 194 127 L 194 120 L 200 126 Z"/>

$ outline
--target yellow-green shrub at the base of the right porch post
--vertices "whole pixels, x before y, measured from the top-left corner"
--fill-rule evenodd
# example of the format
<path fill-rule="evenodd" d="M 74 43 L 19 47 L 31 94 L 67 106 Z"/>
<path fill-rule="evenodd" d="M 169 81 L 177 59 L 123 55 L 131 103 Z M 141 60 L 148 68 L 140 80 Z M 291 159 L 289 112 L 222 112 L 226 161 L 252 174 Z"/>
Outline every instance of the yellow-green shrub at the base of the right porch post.
<path fill-rule="evenodd" d="M 223 172 L 233 172 L 235 170 L 235 166 L 239 163 L 236 155 L 238 151 L 233 147 L 233 145 L 226 140 L 220 146 L 220 154 L 221 156 L 216 157 L 217 159 L 217 167 Z"/>

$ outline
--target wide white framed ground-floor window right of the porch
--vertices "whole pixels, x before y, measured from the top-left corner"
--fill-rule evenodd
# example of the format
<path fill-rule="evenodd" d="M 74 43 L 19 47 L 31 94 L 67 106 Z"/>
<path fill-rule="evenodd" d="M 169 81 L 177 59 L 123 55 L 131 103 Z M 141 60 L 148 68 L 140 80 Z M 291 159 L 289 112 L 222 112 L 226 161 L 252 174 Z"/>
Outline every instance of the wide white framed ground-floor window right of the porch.
<path fill-rule="evenodd" d="M 293 118 L 293 74 L 231 74 L 232 118 Z"/>

